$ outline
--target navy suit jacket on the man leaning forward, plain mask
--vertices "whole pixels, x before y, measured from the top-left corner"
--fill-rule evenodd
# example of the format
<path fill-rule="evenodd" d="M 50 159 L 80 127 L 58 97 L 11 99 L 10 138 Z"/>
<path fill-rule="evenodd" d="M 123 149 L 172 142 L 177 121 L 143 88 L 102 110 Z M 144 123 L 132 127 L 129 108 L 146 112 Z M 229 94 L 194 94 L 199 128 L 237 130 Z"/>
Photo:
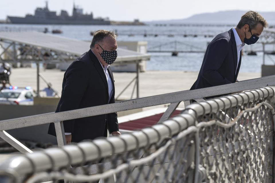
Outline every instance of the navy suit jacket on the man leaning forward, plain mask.
<path fill-rule="evenodd" d="M 198 78 L 190 90 L 235 83 L 240 65 L 241 54 L 237 65 L 237 46 L 230 29 L 217 35 L 207 46 Z"/>

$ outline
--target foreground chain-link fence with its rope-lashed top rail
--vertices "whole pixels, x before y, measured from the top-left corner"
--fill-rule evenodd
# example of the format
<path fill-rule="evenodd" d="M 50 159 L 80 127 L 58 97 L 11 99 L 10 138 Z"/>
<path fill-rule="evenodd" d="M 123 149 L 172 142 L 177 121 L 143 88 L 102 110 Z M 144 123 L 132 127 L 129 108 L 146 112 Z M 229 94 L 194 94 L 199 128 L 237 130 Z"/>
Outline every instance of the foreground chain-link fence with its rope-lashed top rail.
<path fill-rule="evenodd" d="M 49 148 L 0 165 L 4 182 L 272 182 L 270 87 L 191 104 L 120 137 Z"/>

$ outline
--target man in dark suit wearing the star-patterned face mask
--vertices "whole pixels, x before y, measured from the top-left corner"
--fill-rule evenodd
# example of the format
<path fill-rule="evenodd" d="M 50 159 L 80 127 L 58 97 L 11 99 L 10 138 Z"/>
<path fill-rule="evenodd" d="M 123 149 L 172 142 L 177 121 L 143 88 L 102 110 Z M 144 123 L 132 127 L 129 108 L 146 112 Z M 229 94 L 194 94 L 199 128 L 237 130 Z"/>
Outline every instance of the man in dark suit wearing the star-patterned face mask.
<path fill-rule="evenodd" d="M 90 50 L 78 57 L 64 74 L 56 112 L 115 102 L 114 79 L 109 65 L 117 57 L 116 49 L 115 33 L 107 30 L 95 32 Z M 107 129 L 113 136 L 120 135 L 117 113 L 67 120 L 63 124 L 67 144 L 107 137 Z M 53 123 L 48 133 L 56 135 Z"/>

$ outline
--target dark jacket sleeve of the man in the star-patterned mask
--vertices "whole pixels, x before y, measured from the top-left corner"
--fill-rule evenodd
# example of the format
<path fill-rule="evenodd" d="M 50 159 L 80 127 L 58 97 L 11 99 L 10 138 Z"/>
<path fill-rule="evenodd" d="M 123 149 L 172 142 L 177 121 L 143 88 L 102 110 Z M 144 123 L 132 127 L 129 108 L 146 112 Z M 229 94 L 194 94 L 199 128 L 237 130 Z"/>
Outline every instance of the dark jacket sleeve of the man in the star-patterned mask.
<path fill-rule="evenodd" d="M 79 109 L 80 102 L 86 91 L 88 81 L 85 63 L 75 61 L 66 71 L 64 89 L 60 98 L 59 112 Z M 74 131 L 74 120 L 64 121 L 64 131 Z"/>

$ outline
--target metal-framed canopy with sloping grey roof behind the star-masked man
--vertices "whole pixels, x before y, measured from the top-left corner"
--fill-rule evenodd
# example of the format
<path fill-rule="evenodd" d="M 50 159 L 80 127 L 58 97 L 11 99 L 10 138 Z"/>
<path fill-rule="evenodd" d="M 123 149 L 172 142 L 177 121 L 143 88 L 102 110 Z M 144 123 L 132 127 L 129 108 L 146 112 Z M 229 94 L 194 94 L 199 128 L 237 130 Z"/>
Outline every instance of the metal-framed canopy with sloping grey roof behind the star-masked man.
<path fill-rule="evenodd" d="M 8 63 L 36 63 L 37 67 L 37 96 L 39 97 L 39 64 L 72 62 L 79 55 L 89 50 L 90 42 L 70 39 L 35 31 L 1 32 L 0 61 Z M 150 59 L 149 54 L 117 48 L 118 57 L 114 64 L 134 63 L 136 69 L 137 98 L 139 98 L 139 64 Z M 128 85 L 127 85 L 128 87 Z M 126 88 L 127 88 L 126 87 Z M 125 89 L 126 89 L 125 88 Z M 134 91 L 133 89 L 133 91 Z"/>

